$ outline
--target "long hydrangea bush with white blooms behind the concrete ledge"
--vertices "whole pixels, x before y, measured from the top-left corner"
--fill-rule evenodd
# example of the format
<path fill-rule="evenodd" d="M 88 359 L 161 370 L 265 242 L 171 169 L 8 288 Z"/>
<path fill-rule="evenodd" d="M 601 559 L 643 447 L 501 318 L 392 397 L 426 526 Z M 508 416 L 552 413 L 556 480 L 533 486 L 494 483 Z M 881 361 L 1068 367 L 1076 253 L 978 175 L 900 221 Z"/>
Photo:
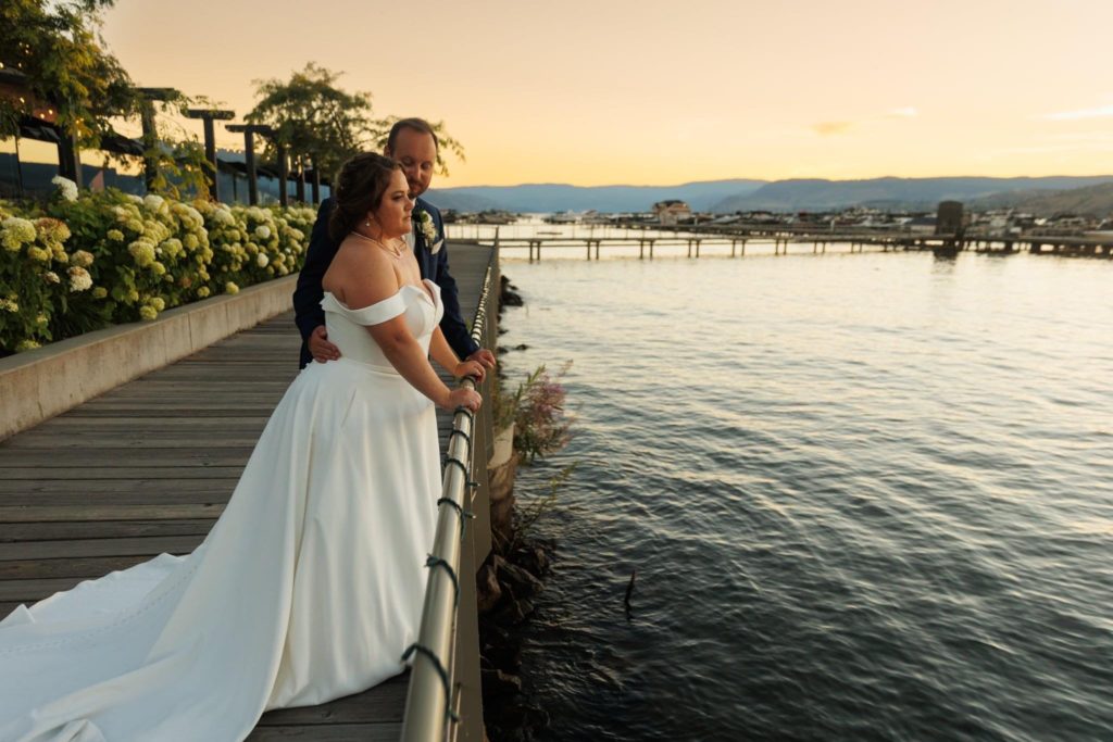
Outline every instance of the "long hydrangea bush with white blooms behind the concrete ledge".
<path fill-rule="evenodd" d="M 0 201 L 0 355 L 296 273 L 316 218 L 55 185 L 43 206 Z"/>

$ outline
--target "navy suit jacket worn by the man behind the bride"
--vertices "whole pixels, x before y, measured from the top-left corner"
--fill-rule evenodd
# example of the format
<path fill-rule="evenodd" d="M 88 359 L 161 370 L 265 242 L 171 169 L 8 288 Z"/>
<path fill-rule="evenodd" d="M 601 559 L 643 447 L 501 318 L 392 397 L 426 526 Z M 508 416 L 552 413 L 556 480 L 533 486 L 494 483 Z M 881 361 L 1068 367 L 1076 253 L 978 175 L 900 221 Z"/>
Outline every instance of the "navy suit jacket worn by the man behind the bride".
<path fill-rule="evenodd" d="M 414 215 L 418 210 L 427 211 L 433 217 L 436 231 L 444 238 L 444 222 L 441 220 L 441 212 L 429 201 L 417 198 L 414 205 Z M 339 243 L 334 243 L 328 236 L 328 217 L 333 212 L 333 199 L 326 198 L 321 202 L 317 211 L 317 221 L 313 225 L 313 235 L 309 237 L 309 249 L 305 254 L 305 266 L 297 277 L 297 288 L 294 289 L 294 321 L 302 333 L 302 359 L 301 367 L 305 368 L 313 356 L 309 354 L 307 340 L 309 334 L 321 325 L 325 324 L 325 310 L 321 308 L 321 300 L 325 297 L 325 290 L 321 287 L 321 279 L 324 278 L 328 265 L 336 257 Z M 449 273 L 449 249 L 447 243 L 441 246 L 436 255 L 425 245 L 425 236 L 420 229 L 414 229 L 414 256 L 417 258 L 417 266 L 421 268 L 421 277 L 430 278 L 441 287 L 441 301 L 444 304 L 444 316 L 441 318 L 441 332 L 456 355 L 466 358 L 479 349 L 479 345 L 472 339 L 467 325 L 460 316 L 460 297 L 456 291 L 456 280 Z"/>

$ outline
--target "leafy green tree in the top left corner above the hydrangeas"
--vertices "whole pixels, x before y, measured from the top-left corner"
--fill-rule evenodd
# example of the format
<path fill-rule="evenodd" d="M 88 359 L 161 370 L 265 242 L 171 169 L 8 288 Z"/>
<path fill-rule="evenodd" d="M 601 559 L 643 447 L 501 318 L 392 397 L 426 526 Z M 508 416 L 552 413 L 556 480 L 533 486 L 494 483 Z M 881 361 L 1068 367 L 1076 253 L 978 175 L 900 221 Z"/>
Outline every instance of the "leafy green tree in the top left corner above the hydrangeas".
<path fill-rule="evenodd" d="M 0 138 L 49 105 L 58 125 L 82 147 L 96 147 L 110 116 L 135 115 L 131 78 L 105 48 L 101 12 L 115 0 L 4 0 L 0 4 L 0 62 L 24 76 L 26 93 L 0 96 Z"/>

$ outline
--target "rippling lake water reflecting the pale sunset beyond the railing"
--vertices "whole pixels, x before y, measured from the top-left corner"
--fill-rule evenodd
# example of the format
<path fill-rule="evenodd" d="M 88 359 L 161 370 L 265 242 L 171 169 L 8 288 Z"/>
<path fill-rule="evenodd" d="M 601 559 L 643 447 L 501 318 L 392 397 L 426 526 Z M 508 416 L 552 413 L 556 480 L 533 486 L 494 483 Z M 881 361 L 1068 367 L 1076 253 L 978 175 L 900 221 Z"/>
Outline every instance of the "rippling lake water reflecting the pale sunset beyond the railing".
<path fill-rule="evenodd" d="M 1113 261 L 511 258 L 542 739 L 1113 739 Z"/>

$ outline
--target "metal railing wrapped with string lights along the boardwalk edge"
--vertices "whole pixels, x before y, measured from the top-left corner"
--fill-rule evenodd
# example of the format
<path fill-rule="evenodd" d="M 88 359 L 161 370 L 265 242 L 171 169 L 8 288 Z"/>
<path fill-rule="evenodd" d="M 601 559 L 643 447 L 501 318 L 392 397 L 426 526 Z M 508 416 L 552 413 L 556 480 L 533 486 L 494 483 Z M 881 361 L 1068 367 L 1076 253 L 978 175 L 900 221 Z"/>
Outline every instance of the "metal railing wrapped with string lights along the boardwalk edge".
<path fill-rule="evenodd" d="M 492 256 L 492 264 L 498 259 Z M 496 269 L 487 266 L 483 277 L 483 293 L 480 296 L 472 338 L 482 347 L 491 347 L 492 321 L 487 310 L 492 304 L 491 291 L 496 279 Z M 490 388 L 492 375 L 483 383 Z M 474 389 L 471 378 L 462 386 Z M 462 733 L 464 738 L 483 739 L 482 703 L 479 685 L 477 636 L 465 636 L 464 641 L 476 643 L 471 651 L 471 663 L 463 672 L 471 675 L 471 685 L 464 699 L 465 684 L 462 682 L 461 647 L 457 634 L 461 624 L 475 630 L 476 617 L 465 612 L 475 609 L 475 561 L 482 558 L 474 548 L 476 541 L 487 543 L 483 534 L 476 535 L 476 525 L 489 527 L 489 518 L 471 513 L 486 505 L 485 492 L 476 499 L 477 483 L 486 481 L 486 441 L 491 428 L 491 404 L 484 399 L 479 413 L 472 414 L 457 408 L 453 415 L 452 431 L 449 433 L 447 456 L 442 481 L 442 496 L 437 501 L 436 534 L 433 550 L 426 561 L 429 578 L 425 603 L 422 609 L 421 630 L 417 641 L 406 652 L 413 655 L 410 687 L 406 694 L 402 739 L 406 742 L 432 742 L 454 740 Z M 482 472 L 472 473 L 472 467 Z M 480 476 L 480 474 L 482 476 Z M 483 553 L 485 556 L 485 552 Z M 462 600 L 465 598 L 465 600 Z M 477 719 L 476 719 L 477 716 Z M 461 723 L 462 722 L 462 723 Z M 476 736 L 477 730 L 477 736 Z"/>

